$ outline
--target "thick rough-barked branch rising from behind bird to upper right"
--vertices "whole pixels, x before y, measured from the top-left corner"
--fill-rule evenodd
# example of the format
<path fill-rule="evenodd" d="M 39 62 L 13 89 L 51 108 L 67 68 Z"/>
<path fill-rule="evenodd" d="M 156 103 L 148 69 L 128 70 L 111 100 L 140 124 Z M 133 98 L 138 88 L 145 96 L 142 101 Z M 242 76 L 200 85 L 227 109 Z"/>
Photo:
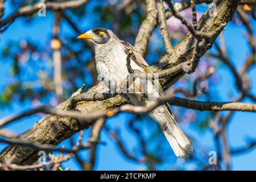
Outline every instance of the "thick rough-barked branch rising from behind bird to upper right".
<path fill-rule="evenodd" d="M 234 12 L 237 9 L 239 1 L 236 0 L 227 0 L 227 1 L 217 1 L 217 14 L 218 16 L 210 16 L 209 9 L 201 16 L 198 22 L 197 30 L 202 32 L 212 32 L 216 30 L 216 28 L 220 28 L 220 24 L 226 24 L 229 20 L 232 19 Z M 220 17 L 222 17 L 220 19 Z M 212 36 L 212 38 L 208 39 L 207 43 L 203 48 L 201 48 L 200 55 L 204 55 L 204 53 L 212 46 L 214 40 L 217 38 L 220 32 L 216 32 Z M 176 46 L 174 47 L 174 51 L 171 56 L 163 56 L 158 63 L 151 66 L 151 69 L 154 72 L 160 72 L 163 69 L 176 67 L 179 64 L 184 64 L 188 60 L 191 60 L 193 55 L 195 55 L 195 49 L 197 47 L 197 42 L 195 36 L 193 34 L 188 34 L 185 36 Z M 184 65 L 185 66 L 185 65 Z M 183 65 L 178 66 L 179 68 L 183 68 Z M 188 67 L 189 68 L 189 67 Z M 160 79 L 160 84 L 163 86 L 163 89 L 167 89 L 172 84 L 174 84 L 179 78 L 181 78 L 186 71 L 185 67 L 177 72 L 174 76 L 165 77 Z"/>

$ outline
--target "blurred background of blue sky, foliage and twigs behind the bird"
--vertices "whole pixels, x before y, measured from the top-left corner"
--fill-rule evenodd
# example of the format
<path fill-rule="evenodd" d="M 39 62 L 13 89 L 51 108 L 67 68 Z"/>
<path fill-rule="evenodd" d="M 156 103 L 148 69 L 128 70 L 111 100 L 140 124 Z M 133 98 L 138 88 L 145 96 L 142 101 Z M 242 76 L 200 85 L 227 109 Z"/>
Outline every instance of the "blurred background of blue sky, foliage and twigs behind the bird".
<path fill-rule="evenodd" d="M 0 18 L 5 20 L 20 7 L 34 6 L 38 2 L 40 1 L 0 0 Z M 167 3 L 164 6 L 168 9 Z M 197 19 L 200 19 L 208 7 L 209 3 L 196 5 Z M 177 92 L 175 96 L 199 101 L 255 102 L 249 96 L 241 98 L 241 90 L 232 71 L 234 68 L 241 74 L 245 89 L 250 90 L 253 97 L 256 94 L 254 9 L 252 5 L 238 6 L 233 20 L 201 58 L 196 71 L 183 76 L 170 88 L 195 92 L 191 91 L 187 95 Z M 192 22 L 190 7 L 181 11 L 181 15 Z M 40 13 L 20 16 L 2 26 L 0 116 L 5 117 L 38 105 L 56 106 L 67 100 L 82 84 L 85 84 L 85 90 L 97 84 L 96 65 L 90 47 L 77 39 L 77 36 L 95 27 L 106 27 L 113 30 L 120 39 L 134 44 L 139 26 L 145 18 L 146 1 L 90 0 L 71 9 L 46 9 L 45 16 L 40 16 Z M 174 45 L 189 32 L 174 16 L 167 20 L 167 27 Z M 165 52 L 159 28 L 156 27 L 144 58 L 152 65 Z M 207 79 L 200 79 L 204 75 L 208 75 Z M 191 156 L 190 162 L 176 158 L 158 125 L 146 114 L 122 113 L 106 120 L 95 156 L 92 156 L 90 150 L 79 151 L 75 158 L 63 162 L 61 168 L 256 169 L 255 113 L 213 113 L 177 106 L 172 108 L 176 120 L 191 139 L 195 149 L 195 155 Z M 22 118 L 1 128 L 0 135 L 2 138 L 13 138 L 32 127 L 40 118 L 42 114 Z M 68 148 L 78 136 L 79 134 L 73 135 L 59 146 Z M 90 129 L 84 131 L 84 140 L 89 137 Z M 7 144 L 1 143 L 0 150 L 5 146 Z M 211 167 L 208 159 L 214 152 L 218 164 Z M 60 154 L 52 152 L 52 155 Z M 93 163 L 90 163 L 92 167 L 86 166 L 90 157 L 94 158 Z"/>

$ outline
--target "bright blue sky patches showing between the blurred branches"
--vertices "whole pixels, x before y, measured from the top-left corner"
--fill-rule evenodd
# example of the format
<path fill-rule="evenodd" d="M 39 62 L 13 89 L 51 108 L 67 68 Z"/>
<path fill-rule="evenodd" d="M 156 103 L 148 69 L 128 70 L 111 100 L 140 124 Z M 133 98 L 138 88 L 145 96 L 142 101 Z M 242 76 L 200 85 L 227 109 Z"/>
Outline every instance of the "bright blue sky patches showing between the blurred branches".
<path fill-rule="evenodd" d="M 13 12 L 13 9 L 10 6 L 6 6 L 5 13 L 9 14 Z M 79 23 L 80 30 L 87 31 L 89 28 L 93 28 L 92 24 L 96 24 L 94 19 L 90 17 L 90 12 L 88 17 L 82 19 L 82 22 Z M 8 30 L 1 36 L 0 40 L 0 49 L 5 47 L 6 43 L 10 40 L 20 41 L 22 39 L 32 40 L 32 42 L 40 44 L 42 46 L 48 45 L 49 38 L 52 34 L 52 24 L 53 19 L 51 18 L 52 14 L 48 13 L 46 17 L 36 17 L 29 26 L 26 26 L 23 18 L 18 18 L 16 21 L 8 28 Z M 40 22 L 40 23 L 38 23 Z M 256 30 L 256 23 L 253 23 L 254 32 Z M 226 42 L 226 47 L 230 56 L 232 57 L 232 62 L 236 65 L 237 69 L 240 69 L 243 61 L 245 60 L 246 54 L 249 53 L 247 47 L 246 39 L 243 36 L 243 28 L 234 26 L 232 23 L 229 23 L 224 31 L 224 38 Z M 256 33 L 256 32 L 255 32 Z M 61 26 L 61 36 L 64 39 L 65 35 L 77 36 L 68 24 L 63 23 Z M 88 51 L 86 49 L 84 51 Z M 3 86 L 8 84 L 10 81 L 10 60 L 1 60 L 0 62 L 0 90 L 3 89 Z M 224 66 L 221 65 L 217 69 L 217 74 L 220 77 L 219 83 L 214 85 L 214 89 L 218 93 L 216 99 L 213 97 L 214 101 L 229 101 L 230 90 L 236 94 L 237 89 L 235 82 L 232 78 L 232 73 Z M 256 69 L 253 68 L 250 71 L 250 78 L 255 78 Z M 227 86 L 228 85 L 228 86 Z M 256 94 L 255 85 L 256 79 L 251 80 L 251 92 Z M 250 100 L 246 100 L 251 102 Z M 43 102 L 43 101 L 42 101 Z M 47 103 L 46 103 L 47 104 Z M 14 102 L 11 108 L 0 110 L 0 117 L 5 117 L 6 115 L 17 113 L 24 109 L 29 109 L 31 107 L 30 102 L 18 103 Z M 27 117 L 20 119 L 18 122 L 15 122 L 14 125 L 9 125 L 6 128 L 15 131 L 15 133 L 22 133 L 30 128 L 34 123 L 40 118 L 40 115 L 34 115 L 32 117 Z M 118 127 L 121 129 L 122 138 L 127 141 L 127 147 L 130 149 L 137 144 L 135 138 L 129 134 L 129 131 L 126 131 L 127 123 L 126 121 L 131 117 L 130 114 L 119 114 L 118 116 L 108 119 L 108 125 L 112 128 Z M 232 121 L 228 125 L 228 142 L 231 147 L 240 147 L 246 145 L 247 137 L 256 138 L 256 114 L 255 113 L 242 113 L 236 112 Z M 201 146 L 207 147 L 208 150 L 214 150 L 214 142 L 212 131 L 207 130 L 204 132 L 196 129 L 193 124 L 191 125 L 181 125 L 185 132 L 191 135 L 196 139 L 198 144 Z M 89 131 L 86 131 L 88 137 Z M 106 145 L 100 145 L 98 147 L 98 158 L 96 161 L 97 170 L 130 170 L 130 169 L 144 169 L 144 166 L 141 164 L 133 163 L 123 158 L 122 154 L 118 151 L 117 147 L 113 143 L 112 139 L 106 134 L 106 131 L 103 131 L 101 134 L 101 140 L 106 142 Z M 68 142 L 63 142 L 65 146 L 69 146 Z M 168 145 L 168 143 L 163 143 Z M 4 144 L 0 144 L 0 150 L 4 147 Z M 170 149 L 171 150 L 171 149 Z M 170 152 L 170 155 L 174 155 L 173 152 Z M 85 155 L 86 156 L 86 155 Z M 181 159 L 177 160 L 181 165 L 186 165 L 188 169 L 193 169 L 193 164 L 187 164 Z M 254 162 L 253 162 L 254 161 Z M 234 170 L 256 170 L 256 150 L 253 150 L 247 154 L 232 156 L 231 164 L 232 169 Z M 190 166 L 189 166 L 190 165 Z M 71 169 L 79 169 L 75 165 L 74 160 L 64 163 L 64 167 Z M 190 168 L 189 168 L 190 167 Z"/>

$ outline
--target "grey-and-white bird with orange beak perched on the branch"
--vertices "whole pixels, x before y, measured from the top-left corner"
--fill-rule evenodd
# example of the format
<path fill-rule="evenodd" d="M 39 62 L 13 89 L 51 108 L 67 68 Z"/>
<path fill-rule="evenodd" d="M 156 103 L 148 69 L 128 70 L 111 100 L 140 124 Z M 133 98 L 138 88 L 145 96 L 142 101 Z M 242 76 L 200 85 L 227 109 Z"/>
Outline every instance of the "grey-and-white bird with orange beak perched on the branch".
<path fill-rule="evenodd" d="M 103 81 L 106 86 L 114 85 L 114 88 L 119 90 L 119 92 L 123 90 L 123 82 L 127 82 L 127 76 L 129 76 L 127 65 L 127 56 L 129 54 L 131 69 L 152 73 L 152 70 L 141 54 L 131 44 L 118 39 L 111 30 L 95 28 L 80 35 L 78 38 L 86 39 L 94 48 L 97 72 L 104 79 Z M 142 91 L 139 79 L 141 78 L 136 78 L 131 88 L 139 88 L 139 91 Z M 154 100 L 148 98 L 148 95 L 159 97 L 164 94 L 158 81 L 156 81 L 156 85 L 153 85 L 152 81 L 147 81 L 146 89 L 147 94 L 129 92 L 122 93 L 121 96 L 134 105 L 148 106 L 154 102 Z M 149 115 L 158 122 L 175 155 L 188 160 L 189 153 L 193 154 L 193 147 L 177 125 L 168 103 L 156 107 Z"/>

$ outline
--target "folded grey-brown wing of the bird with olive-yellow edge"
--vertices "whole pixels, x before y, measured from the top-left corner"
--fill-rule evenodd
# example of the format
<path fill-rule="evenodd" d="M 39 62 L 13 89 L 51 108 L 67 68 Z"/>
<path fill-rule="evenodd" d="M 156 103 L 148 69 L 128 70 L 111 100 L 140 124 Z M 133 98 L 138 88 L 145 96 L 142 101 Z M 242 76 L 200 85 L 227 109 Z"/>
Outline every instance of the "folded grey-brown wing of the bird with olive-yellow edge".
<path fill-rule="evenodd" d="M 142 55 L 133 47 L 131 46 L 131 44 L 127 43 L 127 42 L 124 42 L 122 41 L 121 42 L 123 44 L 123 47 L 125 48 L 125 53 L 126 55 L 129 54 L 129 51 L 132 51 L 133 53 L 131 54 L 131 59 L 141 68 L 144 69 L 144 71 L 146 71 L 147 73 L 153 73 L 152 69 L 150 69 L 150 67 L 148 66 L 147 62 L 144 60 L 144 58 L 142 57 Z M 159 94 L 160 96 L 163 96 L 164 95 L 164 91 L 163 91 L 163 88 L 162 86 L 160 85 L 159 81 L 155 80 L 155 83 L 158 87 L 158 90 L 159 90 Z M 154 85 L 154 84 L 153 84 Z M 166 104 L 166 107 L 168 109 L 168 111 L 170 112 L 171 116 L 174 118 L 174 114 L 172 113 L 172 110 L 171 110 L 171 107 L 170 105 Z"/>

